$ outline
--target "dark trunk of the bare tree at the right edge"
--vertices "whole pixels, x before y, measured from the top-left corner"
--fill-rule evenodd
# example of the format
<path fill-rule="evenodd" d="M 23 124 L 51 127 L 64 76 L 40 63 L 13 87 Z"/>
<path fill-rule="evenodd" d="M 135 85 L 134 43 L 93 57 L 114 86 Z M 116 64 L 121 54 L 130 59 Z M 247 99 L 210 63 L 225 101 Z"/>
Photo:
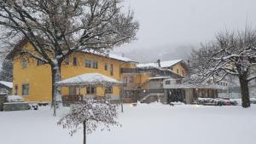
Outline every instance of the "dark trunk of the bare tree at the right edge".
<path fill-rule="evenodd" d="M 240 76 L 240 88 L 241 88 L 241 106 L 242 107 L 250 107 L 250 95 L 249 95 L 249 88 L 248 88 L 248 81 L 247 76 Z"/>

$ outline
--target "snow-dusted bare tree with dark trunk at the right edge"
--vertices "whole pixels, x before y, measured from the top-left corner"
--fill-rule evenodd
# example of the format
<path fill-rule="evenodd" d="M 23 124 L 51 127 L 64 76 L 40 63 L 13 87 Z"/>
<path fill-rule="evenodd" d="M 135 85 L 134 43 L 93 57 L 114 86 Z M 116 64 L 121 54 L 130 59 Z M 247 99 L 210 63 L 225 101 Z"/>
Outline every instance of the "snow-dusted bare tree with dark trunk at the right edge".
<path fill-rule="evenodd" d="M 248 84 L 256 78 L 256 31 L 222 32 L 211 43 L 202 44 L 192 55 L 192 66 L 199 78 L 212 77 L 215 82 L 226 76 L 239 78 L 242 107 L 250 107 Z M 199 64 L 199 65 L 198 65 Z"/>

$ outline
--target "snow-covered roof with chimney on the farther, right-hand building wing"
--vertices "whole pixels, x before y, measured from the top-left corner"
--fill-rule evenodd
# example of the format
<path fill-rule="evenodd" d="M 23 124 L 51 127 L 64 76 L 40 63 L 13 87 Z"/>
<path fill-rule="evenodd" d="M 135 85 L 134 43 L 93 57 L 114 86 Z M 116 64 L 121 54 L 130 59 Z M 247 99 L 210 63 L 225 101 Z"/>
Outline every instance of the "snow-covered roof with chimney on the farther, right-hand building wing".
<path fill-rule="evenodd" d="M 168 61 L 160 61 L 160 66 L 161 67 L 170 67 L 174 66 L 178 62 L 182 61 L 180 60 L 168 60 Z M 137 64 L 137 67 L 159 67 L 157 62 L 152 62 L 152 63 L 141 63 Z"/>

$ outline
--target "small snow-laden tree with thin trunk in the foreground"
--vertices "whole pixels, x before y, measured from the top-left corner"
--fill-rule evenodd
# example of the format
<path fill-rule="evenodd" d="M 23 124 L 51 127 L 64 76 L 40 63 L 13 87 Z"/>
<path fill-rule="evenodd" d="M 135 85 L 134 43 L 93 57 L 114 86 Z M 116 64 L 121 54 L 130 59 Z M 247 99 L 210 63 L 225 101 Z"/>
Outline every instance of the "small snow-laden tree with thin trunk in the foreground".
<path fill-rule="evenodd" d="M 86 134 L 95 131 L 99 126 L 101 129 L 110 130 L 110 126 L 119 123 L 117 118 L 116 107 L 108 101 L 95 101 L 84 98 L 76 105 L 73 105 L 71 112 L 61 118 L 58 122 L 63 128 L 70 130 L 70 135 L 73 135 L 79 129 L 84 130 L 84 144 L 86 143 Z M 102 127 L 104 126 L 104 127 Z"/>

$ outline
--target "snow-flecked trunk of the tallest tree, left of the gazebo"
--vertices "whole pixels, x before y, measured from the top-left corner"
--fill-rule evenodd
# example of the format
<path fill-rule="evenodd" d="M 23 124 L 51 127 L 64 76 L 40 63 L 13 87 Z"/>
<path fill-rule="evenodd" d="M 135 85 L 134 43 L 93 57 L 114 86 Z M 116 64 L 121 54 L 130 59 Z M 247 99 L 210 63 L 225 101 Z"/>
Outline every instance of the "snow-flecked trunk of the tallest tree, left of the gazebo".
<path fill-rule="evenodd" d="M 51 66 L 51 94 L 52 94 L 52 107 L 54 107 L 54 116 L 56 116 L 56 103 L 61 103 L 61 88 L 58 87 L 55 83 L 61 81 L 61 70 L 60 66 L 54 65 Z"/>

